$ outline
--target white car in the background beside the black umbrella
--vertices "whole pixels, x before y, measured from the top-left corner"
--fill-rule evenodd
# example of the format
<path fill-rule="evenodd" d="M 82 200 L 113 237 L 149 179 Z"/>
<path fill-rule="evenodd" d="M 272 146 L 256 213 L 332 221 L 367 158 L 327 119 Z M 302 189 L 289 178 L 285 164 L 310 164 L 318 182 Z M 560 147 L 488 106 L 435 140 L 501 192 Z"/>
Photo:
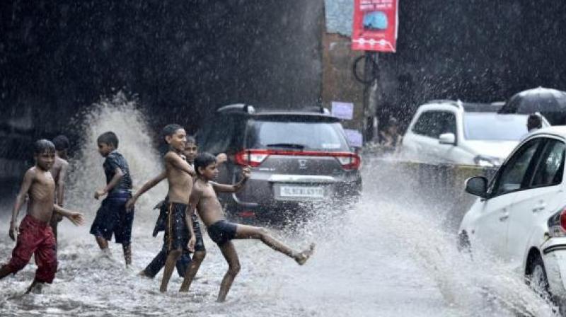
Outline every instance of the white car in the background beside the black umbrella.
<path fill-rule="evenodd" d="M 453 100 L 421 105 L 403 137 L 403 156 L 427 163 L 499 166 L 526 136 L 529 117 L 498 114 L 500 107 Z"/>

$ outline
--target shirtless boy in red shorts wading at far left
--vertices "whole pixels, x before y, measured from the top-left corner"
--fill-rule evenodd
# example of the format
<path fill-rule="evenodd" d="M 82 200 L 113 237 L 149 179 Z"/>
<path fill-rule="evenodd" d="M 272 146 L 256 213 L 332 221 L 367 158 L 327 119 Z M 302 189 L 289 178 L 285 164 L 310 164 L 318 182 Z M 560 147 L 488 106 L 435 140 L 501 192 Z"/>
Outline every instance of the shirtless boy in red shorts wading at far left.
<path fill-rule="evenodd" d="M 30 262 L 32 255 L 35 255 L 37 270 L 26 293 L 32 290 L 41 292 L 42 284 L 53 282 L 57 272 L 56 244 L 50 226 L 53 212 L 61 214 L 75 225 L 83 224 L 82 214 L 54 204 L 55 182 L 50 173 L 55 161 L 53 143 L 45 139 L 35 142 L 34 159 L 35 166 L 25 172 L 12 211 L 9 236 L 12 240 L 17 239 L 16 248 L 12 251 L 10 262 L 0 267 L 0 279 L 3 279 L 6 275 L 23 269 Z M 29 195 L 28 212 L 18 228 L 16 221 L 26 194 Z"/>

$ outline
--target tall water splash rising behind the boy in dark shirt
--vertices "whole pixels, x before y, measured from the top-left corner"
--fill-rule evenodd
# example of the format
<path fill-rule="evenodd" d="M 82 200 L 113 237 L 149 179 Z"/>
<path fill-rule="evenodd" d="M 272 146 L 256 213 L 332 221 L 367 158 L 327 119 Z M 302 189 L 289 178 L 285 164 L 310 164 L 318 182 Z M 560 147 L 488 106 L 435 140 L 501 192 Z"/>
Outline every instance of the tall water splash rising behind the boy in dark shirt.
<path fill-rule="evenodd" d="M 147 117 L 140 110 L 135 99 L 129 99 L 125 93 L 119 92 L 110 98 L 102 98 L 83 112 L 79 135 L 81 148 L 71 161 L 69 172 L 67 200 L 69 207 L 84 212 L 88 220 L 93 219 L 99 201 L 94 200 L 94 192 L 105 185 L 103 173 L 103 157 L 98 154 L 96 139 L 100 134 L 112 131 L 117 134 L 118 151 L 125 157 L 132 175 L 134 190 L 146 180 L 153 178 L 163 170 L 162 159 L 156 151 L 152 132 L 147 125 Z M 166 185 L 161 183 L 143 195 L 138 203 L 136 217 L 144 219 L 144 215 L 166 195 Z M 146 219 L 146 220 L 149 220 Z"/>

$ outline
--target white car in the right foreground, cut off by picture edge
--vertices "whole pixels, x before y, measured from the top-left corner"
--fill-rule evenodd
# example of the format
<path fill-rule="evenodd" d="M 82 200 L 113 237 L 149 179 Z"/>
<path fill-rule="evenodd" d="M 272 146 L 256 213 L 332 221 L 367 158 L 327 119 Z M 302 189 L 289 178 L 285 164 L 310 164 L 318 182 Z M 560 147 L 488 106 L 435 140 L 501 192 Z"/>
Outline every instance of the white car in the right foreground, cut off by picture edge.
<path fill-rule="evenodd" d="M 491 182 L 466 181 L 479 196 L 458 229 L 460 246 L 487 247 L 535 289 L 566 299 L 566 126 L 524 139 Z M 478 243 L 478 244 L 477 244 Z"/>

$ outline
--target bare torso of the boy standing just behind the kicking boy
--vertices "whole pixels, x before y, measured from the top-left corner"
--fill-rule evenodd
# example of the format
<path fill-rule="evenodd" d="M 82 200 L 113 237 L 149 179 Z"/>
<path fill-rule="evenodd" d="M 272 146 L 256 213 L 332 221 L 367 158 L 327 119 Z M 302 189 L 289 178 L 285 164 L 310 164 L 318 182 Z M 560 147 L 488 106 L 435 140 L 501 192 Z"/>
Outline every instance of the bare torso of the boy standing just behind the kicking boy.
<path fill-rule="evenodd" d="M 192 170 L 192 167 L 173 151 L 169 151 L 164 159 L 169 183 L 169 201 L 188 204 L 193 181 L 191 175 L 186 171 Z"/>

